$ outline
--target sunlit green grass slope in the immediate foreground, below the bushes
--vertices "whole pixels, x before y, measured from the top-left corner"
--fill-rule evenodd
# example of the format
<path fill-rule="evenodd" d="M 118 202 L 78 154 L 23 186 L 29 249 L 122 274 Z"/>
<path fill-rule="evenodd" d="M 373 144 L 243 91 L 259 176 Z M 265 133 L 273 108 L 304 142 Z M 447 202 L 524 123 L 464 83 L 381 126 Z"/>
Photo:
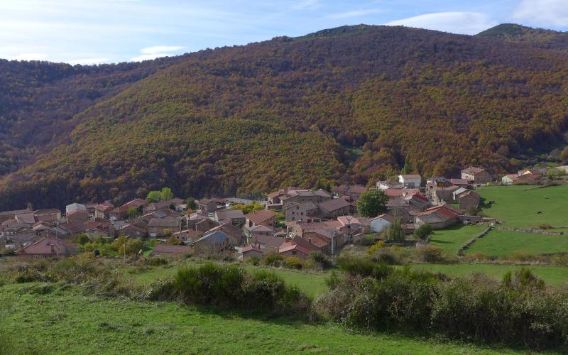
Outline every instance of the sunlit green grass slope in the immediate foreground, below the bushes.
<path fill-rule="evenodd" d="M 80 293 L 0 287 L 0 354 L 515 354 L 331 324 Z"/>

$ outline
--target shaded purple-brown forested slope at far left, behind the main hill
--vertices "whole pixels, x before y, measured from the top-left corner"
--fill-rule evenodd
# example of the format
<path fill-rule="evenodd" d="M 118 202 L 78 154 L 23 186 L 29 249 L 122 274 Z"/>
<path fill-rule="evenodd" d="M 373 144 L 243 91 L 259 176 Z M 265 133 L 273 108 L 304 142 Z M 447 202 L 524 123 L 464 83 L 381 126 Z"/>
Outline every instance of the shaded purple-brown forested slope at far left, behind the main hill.
<path fill-rule="evenodd" d="M 64 143 L 75 114 L 182 59 L 99 66 L 0 59 L 0 176 Z"/>

